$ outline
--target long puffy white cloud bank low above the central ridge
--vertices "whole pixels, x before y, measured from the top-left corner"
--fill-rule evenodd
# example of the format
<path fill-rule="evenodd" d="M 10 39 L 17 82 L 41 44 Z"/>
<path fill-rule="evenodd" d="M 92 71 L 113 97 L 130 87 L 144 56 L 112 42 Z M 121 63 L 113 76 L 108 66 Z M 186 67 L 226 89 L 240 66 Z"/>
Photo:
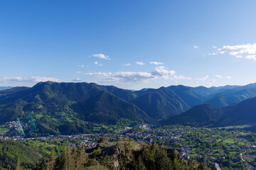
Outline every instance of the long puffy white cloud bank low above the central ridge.
<path fill-rule="evenodd" d="M 191 79 L 191 77 L 177 76 L 174 70 L 167 70 L 165 67 L 156 67 L 153 72 L 92 72 L 85 73 L 93 77 L 102 79 L 102 81 L 111 81 L 115 83 L 132 81 L 149 81 L 150 79 Z"/>

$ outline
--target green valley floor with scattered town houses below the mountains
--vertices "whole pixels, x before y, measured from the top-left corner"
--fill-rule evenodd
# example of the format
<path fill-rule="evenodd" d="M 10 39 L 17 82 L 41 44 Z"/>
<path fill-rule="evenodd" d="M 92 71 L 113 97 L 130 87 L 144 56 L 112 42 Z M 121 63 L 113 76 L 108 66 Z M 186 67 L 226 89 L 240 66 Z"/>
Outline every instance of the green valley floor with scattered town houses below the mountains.
<path fill-rule="evenodd" d="M 61 143 L 69 144 L 72 147 L 82 144 L 85 149 L 93 149 L 97 147 L 97 141 L 101 137 L 105 137 L 109 142 L 124 141 L 130 144 L 132 142 L 156 142 L 159 146 L 174 147 L 187 161 L 195 159 L 208 167 L 213 167 L 216 162 L 221 169 L 252 169 L 256 166 L 256 134 L 240 127 L 226 129 L 181 125 L 162 128 L 149 128 L 149 126 L 144 125 L 144 128 L 127 127 L 115 133 L 50 135 L 48 137 L 2 136 L 0 140 L 31 143 L 33 146 L 43 149 L 42 152 L 46 154 L 46 157 L 50 156 L 50 149 L 57 150 Z"/>

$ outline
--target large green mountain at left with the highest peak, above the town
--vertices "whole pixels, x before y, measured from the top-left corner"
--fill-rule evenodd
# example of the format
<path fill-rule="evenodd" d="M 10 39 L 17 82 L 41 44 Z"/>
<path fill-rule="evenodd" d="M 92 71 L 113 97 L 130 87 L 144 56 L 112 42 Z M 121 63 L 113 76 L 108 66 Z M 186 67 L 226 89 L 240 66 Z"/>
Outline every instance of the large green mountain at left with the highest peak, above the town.
<path fill-rule="evenodd" d="M 0 98 L 0 123 L 26 120 L 31 113 L 41 133 L 89 132 L 90 123 L 143 123 L 144 111 L 87 83 L 38 83 Z M 69 129 L 67 131 L 67 129 Z"/>

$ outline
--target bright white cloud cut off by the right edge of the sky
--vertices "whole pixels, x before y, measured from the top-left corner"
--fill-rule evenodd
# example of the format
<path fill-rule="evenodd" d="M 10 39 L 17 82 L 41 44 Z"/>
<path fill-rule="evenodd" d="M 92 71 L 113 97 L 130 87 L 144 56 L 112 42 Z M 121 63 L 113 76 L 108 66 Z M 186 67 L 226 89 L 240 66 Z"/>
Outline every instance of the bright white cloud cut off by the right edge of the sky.
<path fill-rule="evenodd" d="M 209 53 L 209 55 L 233 55 L 237 58 L 245 57 L 248 60 L 256 61 L 256 43 L 247 43 L 245 45 L 224 45 L 222 48 L 218 48 L 217 51 Z"/>

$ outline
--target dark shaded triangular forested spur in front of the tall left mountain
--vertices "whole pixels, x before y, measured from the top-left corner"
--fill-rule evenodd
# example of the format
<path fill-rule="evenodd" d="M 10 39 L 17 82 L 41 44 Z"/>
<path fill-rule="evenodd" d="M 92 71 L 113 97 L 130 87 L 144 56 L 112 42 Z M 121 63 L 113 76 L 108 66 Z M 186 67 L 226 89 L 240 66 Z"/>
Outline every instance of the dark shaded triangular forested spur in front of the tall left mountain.
<path fill-rule="evenodd" d="M 86 121 L 95 123 L 116 124 L 120 119 L 149 120 L 146 113 L 137 106 L 107 91 L 102 91 L 99 95 L 78 103 L 74 110 L 82 113 Z"/>

